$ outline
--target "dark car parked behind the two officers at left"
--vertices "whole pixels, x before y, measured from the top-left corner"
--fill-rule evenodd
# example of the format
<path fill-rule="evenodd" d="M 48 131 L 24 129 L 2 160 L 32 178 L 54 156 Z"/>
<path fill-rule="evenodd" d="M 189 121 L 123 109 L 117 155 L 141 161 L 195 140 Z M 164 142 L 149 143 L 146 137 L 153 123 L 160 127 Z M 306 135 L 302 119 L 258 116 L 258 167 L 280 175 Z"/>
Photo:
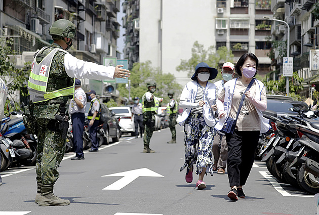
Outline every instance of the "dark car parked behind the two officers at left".
<path fill-rule="evenodd" d="M 110 138 L 112 142 L 117 142 L 121 138 L 122 132 L 118 125 L 118 120 L 114 117 L 115 113 L 112 113 L 104 103 L 100 104 L 102 109 L 100 118 L 104 120 L 102 127 L 107 137 L 107 143 L 111 142 Z M 88 117 L 90 105 L 91 103 L 88 102 L 86 106 L 86 118 Z"/>

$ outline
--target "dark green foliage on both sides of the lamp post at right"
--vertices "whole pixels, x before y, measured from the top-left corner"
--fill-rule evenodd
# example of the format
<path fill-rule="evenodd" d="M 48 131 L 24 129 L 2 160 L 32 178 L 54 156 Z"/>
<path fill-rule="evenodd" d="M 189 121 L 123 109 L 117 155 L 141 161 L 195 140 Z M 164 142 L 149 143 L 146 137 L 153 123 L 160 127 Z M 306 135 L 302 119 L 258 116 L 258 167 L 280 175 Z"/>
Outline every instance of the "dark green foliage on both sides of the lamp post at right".
<path fill-rule="evenodd" d="M 301 84 L 302 81 L 303 81 L 303 78 L 299 77 L 297 71 L 293 73 L 292 77 L 289 77 L 289 95 L 288 96 L 292 96 L 297 100 L 302 99 L 297 94 L 299 91 L 303 90 L 303 85 Z M 264 84 L 269 94 L 285 95 L 285 92 L 286 92 L 286 77 L 285 76 L 281 76 L 279 80 L 269 80 L 269 81 L 264 80 Z"/>

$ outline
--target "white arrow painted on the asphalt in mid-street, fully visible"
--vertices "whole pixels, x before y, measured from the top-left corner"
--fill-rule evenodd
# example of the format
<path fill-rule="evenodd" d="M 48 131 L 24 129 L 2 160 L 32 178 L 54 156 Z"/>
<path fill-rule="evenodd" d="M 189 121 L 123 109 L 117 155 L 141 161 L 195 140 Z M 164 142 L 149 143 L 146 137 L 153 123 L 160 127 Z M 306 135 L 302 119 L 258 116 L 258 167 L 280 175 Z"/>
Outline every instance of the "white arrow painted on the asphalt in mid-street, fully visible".
<path fill-rule="evenodd" d="M 155 173 L 152 170 L 149 170 L 148 168 L 140 168 L 140 169 L 134 169 L 130 171 L 124 171 L 123 173 L 115 173 L 111 175 L 105 175 L 102 177 L 113 177 L 113 176 L 124 176 L 122 179 L 117 180 L 113 184 L 103 188 L 103 190 L 121 190 L 131 182 L 133 182 L 135 179 L 137 179 L 140 176 L 143 177 L 164 177 L 160 174 Z"/>

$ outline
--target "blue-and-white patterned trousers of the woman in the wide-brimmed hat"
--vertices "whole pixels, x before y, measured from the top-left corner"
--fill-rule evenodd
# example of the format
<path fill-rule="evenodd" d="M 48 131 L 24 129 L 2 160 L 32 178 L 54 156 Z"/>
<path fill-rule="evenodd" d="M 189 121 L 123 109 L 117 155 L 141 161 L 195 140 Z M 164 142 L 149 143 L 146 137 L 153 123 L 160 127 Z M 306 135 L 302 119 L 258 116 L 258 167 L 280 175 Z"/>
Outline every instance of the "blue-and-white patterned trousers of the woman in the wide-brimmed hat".
<path fill-rule="evenodd" d="M 196 174 L 199 175 L 206 167 L 206 173 L 213 176 L 212 146 L 214 127 L 209 127 L 202 114 L 190 113 L 184 125 L 185 163 L 180 168 L 190 168 L 196 164 Z"/>

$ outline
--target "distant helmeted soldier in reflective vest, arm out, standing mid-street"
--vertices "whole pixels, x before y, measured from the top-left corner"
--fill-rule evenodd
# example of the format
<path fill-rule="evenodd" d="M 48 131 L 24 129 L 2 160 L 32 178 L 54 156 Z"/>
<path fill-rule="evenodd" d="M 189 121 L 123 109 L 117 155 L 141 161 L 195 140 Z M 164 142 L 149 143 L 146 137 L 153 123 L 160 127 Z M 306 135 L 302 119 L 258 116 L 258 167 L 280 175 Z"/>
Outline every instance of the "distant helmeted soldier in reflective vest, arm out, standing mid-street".
<path fill-rule="evenodd" d="M 154 150 L 149 148 L 149 141 L 153 135 L 155 125 L 155 114 L 157 111 L 155 100 L 159 102 L 163 101 L 163 98 L 158 98 L 153 95 L 156 91 L 156 83 L 149 82 L 146 85 L 148 91 L 142 97 L 143 107 L 143 124 L 144 124 L 144 149 L 143 153 L 154 153 Z M 157 102 L 156 102 L 157 103 Z"/>

